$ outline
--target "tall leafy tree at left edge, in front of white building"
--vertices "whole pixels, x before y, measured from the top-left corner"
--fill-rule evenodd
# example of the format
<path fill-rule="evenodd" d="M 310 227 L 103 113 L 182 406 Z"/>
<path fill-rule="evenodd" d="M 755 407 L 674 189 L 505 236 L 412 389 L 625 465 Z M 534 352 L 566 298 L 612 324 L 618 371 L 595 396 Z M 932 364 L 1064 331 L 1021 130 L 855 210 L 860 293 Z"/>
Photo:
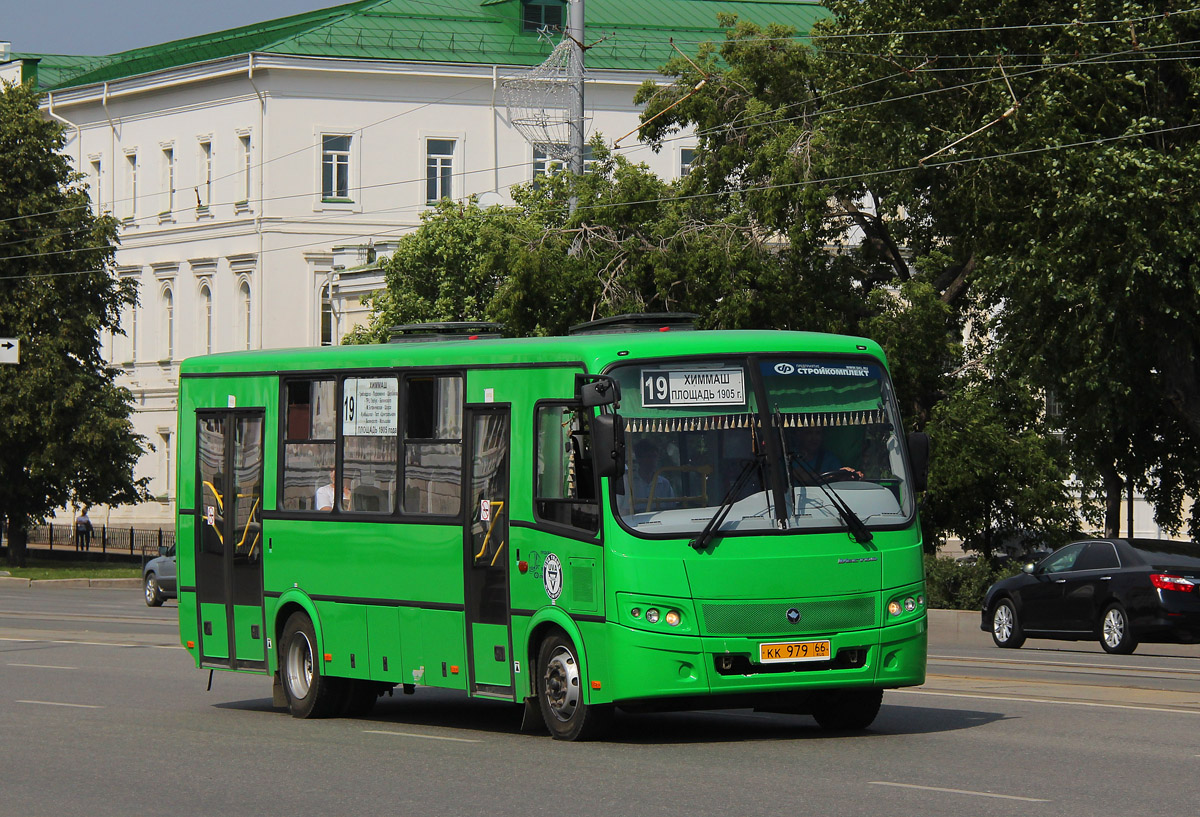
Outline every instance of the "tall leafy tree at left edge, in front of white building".
<path fill-rule="evenodd" d="M 149 498 L 132 395 L 100 355 L 137 295 L 108 269 L 116 223 L 91 214 L 62 145 L 32 89 L 0 88 L 0 335 L 20 341 L 20 364 L 0 366 L 0 518 L 17 565 L 55 509 Z"/>

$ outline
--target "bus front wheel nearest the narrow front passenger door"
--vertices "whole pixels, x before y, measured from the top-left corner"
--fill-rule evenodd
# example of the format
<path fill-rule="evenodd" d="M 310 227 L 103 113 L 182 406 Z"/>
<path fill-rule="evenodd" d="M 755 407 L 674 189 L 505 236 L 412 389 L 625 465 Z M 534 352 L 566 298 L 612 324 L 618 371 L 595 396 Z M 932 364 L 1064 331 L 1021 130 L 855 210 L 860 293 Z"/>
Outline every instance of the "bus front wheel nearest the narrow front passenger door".
<path fill-rule="evenodd" d="M 575 644 L 552 632 L 538 650 L 538 705 L 556 740 L 589 740 L 600 735 L 612 707 L 588 704 Z"/>

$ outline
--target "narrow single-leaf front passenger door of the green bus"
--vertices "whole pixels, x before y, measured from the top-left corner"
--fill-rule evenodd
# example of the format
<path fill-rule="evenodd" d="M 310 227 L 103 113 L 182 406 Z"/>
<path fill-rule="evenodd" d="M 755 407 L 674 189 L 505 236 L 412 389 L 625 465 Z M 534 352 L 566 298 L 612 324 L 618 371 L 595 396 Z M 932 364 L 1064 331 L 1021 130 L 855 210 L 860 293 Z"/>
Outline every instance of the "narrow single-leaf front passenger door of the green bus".
<path fill-rule="evenodd" d="M 509 632 L 509 409 L 467 409 L 464 566 L 472 693 L 511 697 Z"/>

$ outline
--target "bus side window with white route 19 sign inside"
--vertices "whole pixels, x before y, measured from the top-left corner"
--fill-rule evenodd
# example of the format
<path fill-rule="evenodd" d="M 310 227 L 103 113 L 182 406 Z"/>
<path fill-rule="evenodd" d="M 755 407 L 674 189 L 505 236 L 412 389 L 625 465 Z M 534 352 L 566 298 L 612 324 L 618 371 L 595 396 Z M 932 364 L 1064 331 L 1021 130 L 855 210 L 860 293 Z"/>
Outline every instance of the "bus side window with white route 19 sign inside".
<path fill-rule="evenodd" d="M 396 432 L 400 380 L 394 377 L 342 382 L 343 511 L 391 513 L 396 506 Z"/>

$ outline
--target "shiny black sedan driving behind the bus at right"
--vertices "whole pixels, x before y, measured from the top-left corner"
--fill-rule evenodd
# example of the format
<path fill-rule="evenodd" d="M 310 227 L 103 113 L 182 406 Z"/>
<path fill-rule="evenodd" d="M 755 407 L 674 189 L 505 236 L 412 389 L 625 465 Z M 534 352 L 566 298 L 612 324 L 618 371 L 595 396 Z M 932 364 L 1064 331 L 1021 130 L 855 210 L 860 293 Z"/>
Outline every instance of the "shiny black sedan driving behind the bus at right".
<path fill-rule="evenodd" d="M 1138 642 L 1200 642 L 1200 545 L 1157 539 L 1074 542 L 996 582 L 980 627 L 997 647 L 1031 638 L 1098 638 L 1109 653 Z"/>

